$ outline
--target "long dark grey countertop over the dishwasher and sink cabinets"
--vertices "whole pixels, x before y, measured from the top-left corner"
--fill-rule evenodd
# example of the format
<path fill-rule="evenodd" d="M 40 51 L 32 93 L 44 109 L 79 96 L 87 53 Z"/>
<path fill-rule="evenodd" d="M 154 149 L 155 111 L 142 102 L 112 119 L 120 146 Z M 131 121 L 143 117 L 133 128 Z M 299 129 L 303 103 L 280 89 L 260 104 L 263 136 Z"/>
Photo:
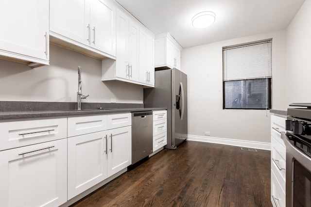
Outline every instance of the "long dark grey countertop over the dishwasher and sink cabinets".
<path fill-rule="evenodd" d="M 135 111 L 158 111 L 167 108 L 132 108 L 132 109 L 109 109 L 109 110 L 51 110 L 51 111 L 6 111 L 0 112 L 0 120 L 44 118 L 44 117 L 70 117 L 85 115 L 100 115 L 109 113 L 126 113 Z"/>

